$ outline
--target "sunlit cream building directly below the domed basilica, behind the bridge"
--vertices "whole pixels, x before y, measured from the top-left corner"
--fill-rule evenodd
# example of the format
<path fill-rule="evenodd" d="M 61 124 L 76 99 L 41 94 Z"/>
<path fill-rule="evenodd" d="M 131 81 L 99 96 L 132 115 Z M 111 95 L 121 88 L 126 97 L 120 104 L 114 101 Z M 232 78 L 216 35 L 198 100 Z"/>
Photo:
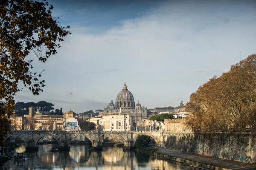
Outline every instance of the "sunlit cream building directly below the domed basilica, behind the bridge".
<path fill-rule="evenodd" d="M 131 130 L 130 116 L 125 113 L 109 113 L 103 116 L 92 117 L 88 120 L 96 124 L 98 130 L 128 131 Z"/>

